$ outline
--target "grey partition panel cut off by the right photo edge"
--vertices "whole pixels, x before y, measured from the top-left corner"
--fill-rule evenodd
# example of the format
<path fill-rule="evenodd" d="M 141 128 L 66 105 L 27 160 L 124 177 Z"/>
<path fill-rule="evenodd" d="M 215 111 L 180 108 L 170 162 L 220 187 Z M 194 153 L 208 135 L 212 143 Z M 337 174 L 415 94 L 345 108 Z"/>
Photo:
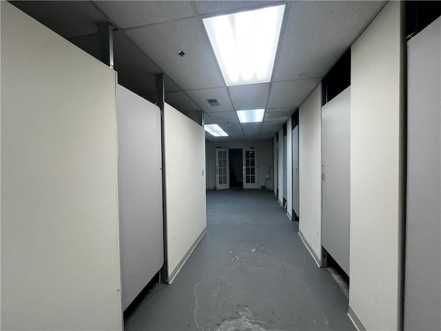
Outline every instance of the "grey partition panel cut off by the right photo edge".
<path fill-rule="evenodd" d="M 441 330 L 441 18 L 407 43 L 404 330 Z"/>

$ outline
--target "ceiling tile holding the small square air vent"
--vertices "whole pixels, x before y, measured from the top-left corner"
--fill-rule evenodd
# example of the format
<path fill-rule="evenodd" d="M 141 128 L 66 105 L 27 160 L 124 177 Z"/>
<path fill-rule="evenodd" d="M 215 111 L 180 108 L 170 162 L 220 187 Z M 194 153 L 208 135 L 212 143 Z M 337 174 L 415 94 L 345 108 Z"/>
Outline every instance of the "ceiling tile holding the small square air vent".
<path fill-rule="evenodd" d="M 234 111 L 226 88 L 207 88 L 204 90 L 192 90 L 186 92 L 205 112 Z M 210 106 L 207 101 L 208 99 L 216 99 L 219 106 Z"/>

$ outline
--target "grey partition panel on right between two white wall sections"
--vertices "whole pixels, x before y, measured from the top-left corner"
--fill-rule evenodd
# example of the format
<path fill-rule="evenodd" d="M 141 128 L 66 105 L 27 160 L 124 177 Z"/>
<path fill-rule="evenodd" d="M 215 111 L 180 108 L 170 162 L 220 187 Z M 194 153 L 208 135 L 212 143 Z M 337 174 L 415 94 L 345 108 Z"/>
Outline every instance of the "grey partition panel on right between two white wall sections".
<path fill-rule="evenodd" d="M 349 274 L 351 88 L 322 107 L 322 246 Z"/>

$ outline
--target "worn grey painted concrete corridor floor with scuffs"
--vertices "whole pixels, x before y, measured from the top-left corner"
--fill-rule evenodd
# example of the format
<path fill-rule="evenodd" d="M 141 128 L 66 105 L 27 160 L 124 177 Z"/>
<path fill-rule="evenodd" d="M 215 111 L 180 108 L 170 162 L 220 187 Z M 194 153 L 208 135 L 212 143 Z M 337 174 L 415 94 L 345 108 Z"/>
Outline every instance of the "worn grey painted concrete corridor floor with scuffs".
<path fill-rule="evenodd" d="M 347 306 L 272 192 L 209 191 L 205 237 L 125 330 L 355 330 Z"/>

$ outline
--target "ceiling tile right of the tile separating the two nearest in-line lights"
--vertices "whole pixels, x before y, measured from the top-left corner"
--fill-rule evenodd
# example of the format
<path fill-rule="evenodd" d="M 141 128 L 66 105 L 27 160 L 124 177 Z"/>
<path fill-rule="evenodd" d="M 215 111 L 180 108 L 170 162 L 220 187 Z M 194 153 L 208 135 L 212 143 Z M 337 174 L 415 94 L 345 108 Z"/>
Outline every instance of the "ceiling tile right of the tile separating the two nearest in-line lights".
<path fill-rule="evenodd" d="M 296 107 L 320 83 L 320 79 L 300 79 L 298 81 L 278 81 L 273 83 L 269 94 L 268 108 Z"/>

